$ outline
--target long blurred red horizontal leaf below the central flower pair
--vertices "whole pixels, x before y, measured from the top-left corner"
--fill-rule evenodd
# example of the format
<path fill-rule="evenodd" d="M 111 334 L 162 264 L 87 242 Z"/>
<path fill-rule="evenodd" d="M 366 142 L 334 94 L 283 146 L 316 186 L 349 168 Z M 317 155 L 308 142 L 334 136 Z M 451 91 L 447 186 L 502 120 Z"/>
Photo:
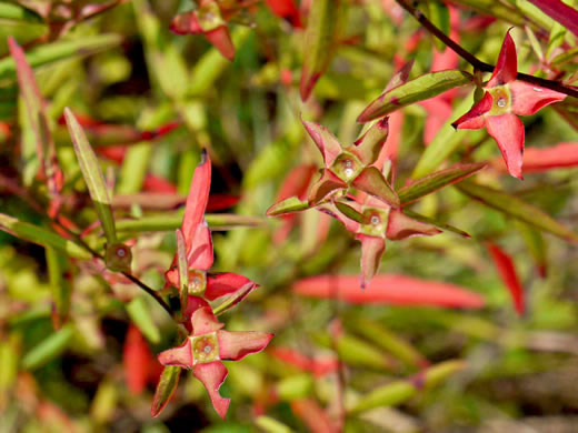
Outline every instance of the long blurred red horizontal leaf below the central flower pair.
<path fill-rule="evenodd" d="M 376 275 L 366 290 L 357 275 L 319 275 L 293 284 L 298 294 L 341 299 L 356 304 L 436 305 L 480 309 L 484 299 L 455 284 L 406 275 Z"/>

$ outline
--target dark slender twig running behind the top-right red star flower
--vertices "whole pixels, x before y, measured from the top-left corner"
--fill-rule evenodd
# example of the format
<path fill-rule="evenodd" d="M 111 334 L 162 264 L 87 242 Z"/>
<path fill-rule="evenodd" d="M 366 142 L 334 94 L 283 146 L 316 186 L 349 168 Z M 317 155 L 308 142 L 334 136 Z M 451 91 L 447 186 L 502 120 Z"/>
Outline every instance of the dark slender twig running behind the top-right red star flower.
<path fill-rule="evenodd" d="M 398 4 L 407 10 L 419 23 L 426 28 L 431 34 L 438 38 L 441 42 L 444 42 L 448 48 L 456 52 L 459 57 L 466 60 L 469 64 L 474 67 L 474 69 L 478 69 L 484 72 L 492 72 L 496 68 L 494 64 L 482 62 L 471 52 L 465 50 L 459 43 L 449 38 L 446 33 L 444 33 L 440 29 L 436 27 L 428 18 L 418 9 L 413 8 L 406 0 L 396 0 Z M 529 75 L 527 73 L 518 72 L 516 75 L 517 80 L 528 82 L 530 84 L 539 85 L 546 89 L 550 89 L 560 93 L 568 94 L 569 97 L 578 98 L 578 89 L 572 89 L 558 81 L 547 80 L 540 77 Z"/>

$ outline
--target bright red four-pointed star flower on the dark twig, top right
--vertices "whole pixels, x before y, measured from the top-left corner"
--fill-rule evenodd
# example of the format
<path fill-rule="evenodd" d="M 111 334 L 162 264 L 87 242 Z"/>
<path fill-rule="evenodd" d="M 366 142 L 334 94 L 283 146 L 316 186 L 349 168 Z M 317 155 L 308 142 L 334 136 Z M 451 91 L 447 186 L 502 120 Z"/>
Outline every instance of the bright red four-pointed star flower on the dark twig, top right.
<path fill-rule="evenodd" d="M 516 46 L 508 32 L 496 69 L 484 88 L 484 98 L 454 122 L 454 128 L 486 127 L 498 143 L 509 173 L 522 179 L 524 124 L 517 115 L 531 115 L 550 103 L 564 100 L 566 94 L 518 81 L 517 73 Z"/>

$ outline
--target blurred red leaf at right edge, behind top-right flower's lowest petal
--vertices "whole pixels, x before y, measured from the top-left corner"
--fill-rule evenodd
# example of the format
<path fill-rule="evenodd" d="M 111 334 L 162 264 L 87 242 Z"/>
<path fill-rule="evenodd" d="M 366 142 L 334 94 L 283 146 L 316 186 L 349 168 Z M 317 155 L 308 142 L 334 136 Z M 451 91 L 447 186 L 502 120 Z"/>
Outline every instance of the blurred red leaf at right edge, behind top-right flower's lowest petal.
<path fill-rule="evenodd" d="M 507 171 L 501 158 L 491 162 L 495 169 Z M 524 171 L 540 172 L 578 165 L 578 142 L 558 143 L 551 148 L 529 148 L 524 152 Z"/>

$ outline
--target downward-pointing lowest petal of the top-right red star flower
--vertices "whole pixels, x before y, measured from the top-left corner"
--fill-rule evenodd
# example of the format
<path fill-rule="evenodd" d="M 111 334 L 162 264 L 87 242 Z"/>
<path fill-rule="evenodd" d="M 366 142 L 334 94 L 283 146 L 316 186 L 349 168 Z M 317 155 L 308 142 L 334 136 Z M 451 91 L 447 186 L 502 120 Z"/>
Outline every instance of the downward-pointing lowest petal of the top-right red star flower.
<path fill-rule="evenodd" d="M 522 179 L 521 163 L 524 154 L 524 124 L 512 113 L 487 115 L 486 128 L 500 148 L 509 173 Z"/>

